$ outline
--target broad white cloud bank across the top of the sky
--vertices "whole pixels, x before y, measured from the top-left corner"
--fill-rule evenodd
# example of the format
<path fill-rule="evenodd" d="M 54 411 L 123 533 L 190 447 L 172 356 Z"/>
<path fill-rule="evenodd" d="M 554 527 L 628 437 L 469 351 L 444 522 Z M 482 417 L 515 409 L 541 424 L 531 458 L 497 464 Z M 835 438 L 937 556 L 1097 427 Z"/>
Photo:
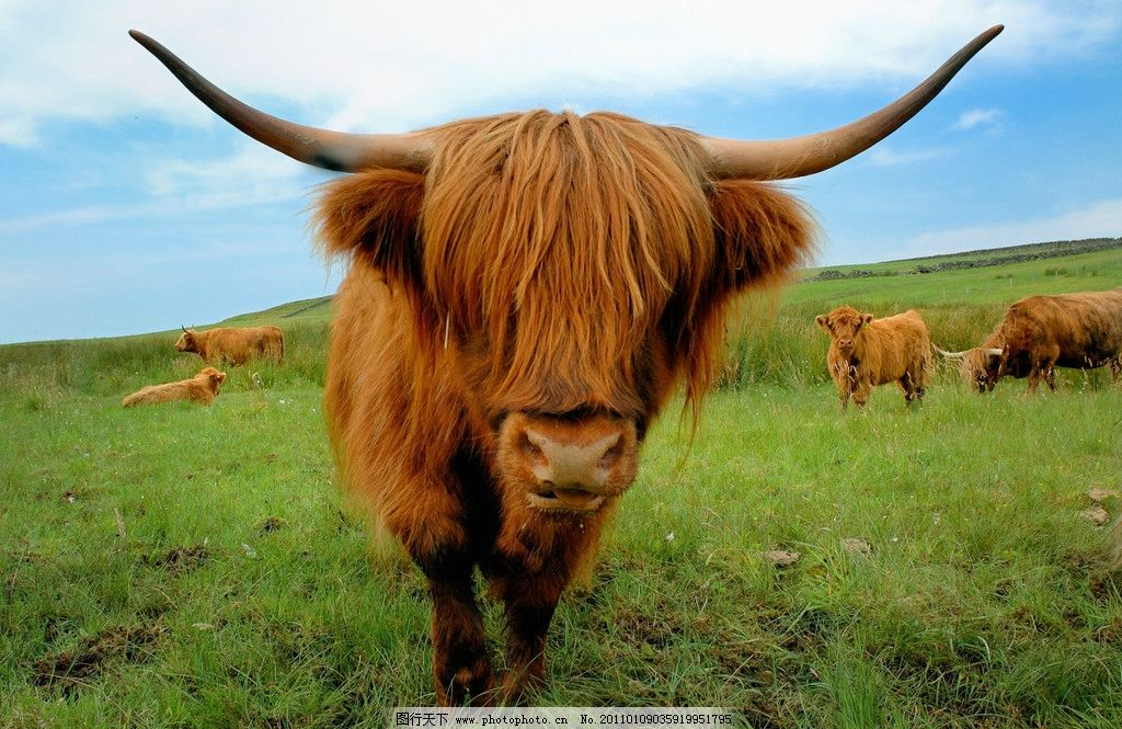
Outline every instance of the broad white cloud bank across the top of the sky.
<path fill-rule="evenodd" d="M 871 0 L 838 3 L 411 3 L 200 0 L 0 3 L 0 143 L 53 119 L 212 115 L 126 35 L 165 43 L 259 106 L 310 124 L 403 130 L 553 98 L 889 82 L 902 90 L 964 42 L 1006 22 L 985 51 L 1012 63 L 1093 52 L 1120 27 L 1115 0 Z"/>

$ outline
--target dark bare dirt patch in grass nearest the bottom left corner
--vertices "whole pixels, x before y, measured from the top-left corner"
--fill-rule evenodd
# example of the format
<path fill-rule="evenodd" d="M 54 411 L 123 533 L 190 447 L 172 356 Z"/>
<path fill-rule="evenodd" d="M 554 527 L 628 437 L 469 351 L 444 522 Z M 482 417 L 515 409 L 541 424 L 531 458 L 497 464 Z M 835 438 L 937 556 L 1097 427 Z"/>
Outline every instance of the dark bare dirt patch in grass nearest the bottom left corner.
<path fill-rule="evenodd" d="M 42 656 L 33 666 L 33 681 L 37 686 L 71 693 L 101 673 L 105 662 L 116 656 L 131 662 L 147 659 L 153 653 L 149 646 L 162 634 L 162 628 L 144 626 L 103 630 L 73 648 Z"/>

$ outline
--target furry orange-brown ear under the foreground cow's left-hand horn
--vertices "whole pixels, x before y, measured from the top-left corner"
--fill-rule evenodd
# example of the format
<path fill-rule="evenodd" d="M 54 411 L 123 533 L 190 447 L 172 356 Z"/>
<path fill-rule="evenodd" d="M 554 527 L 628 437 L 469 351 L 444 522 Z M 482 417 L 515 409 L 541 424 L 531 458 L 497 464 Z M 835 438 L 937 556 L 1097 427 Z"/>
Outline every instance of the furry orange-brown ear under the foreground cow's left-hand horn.
<path fill-rule="evenodd" d="M 420 279 L 424 177 L 371 170 L 328 183 L 315 226 L 329 257 L 352 256 L 397 281 Z"/>

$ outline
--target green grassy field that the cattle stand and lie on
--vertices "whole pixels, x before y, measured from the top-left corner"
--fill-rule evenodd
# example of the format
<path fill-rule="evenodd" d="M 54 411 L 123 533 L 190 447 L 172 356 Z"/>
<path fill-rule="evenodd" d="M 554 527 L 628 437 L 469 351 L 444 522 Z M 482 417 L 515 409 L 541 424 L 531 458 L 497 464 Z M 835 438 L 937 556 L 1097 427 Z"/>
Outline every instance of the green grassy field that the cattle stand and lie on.
<path fill-rule="evenodd" d="M 843 417 L 813 325 L 916 307 L 965 347 L 1021 295 L 1120 283 L 1102 250 L 755 298 L 692 446 L 674 412 L 652 431 L 537 702 L 1122 726 L 1122 577 L 1082 516 L 1122 487 L 1122 386 L 1066 373 L 978 397 L 940 373 L 921 408 L 882 388 Z M 0 347 L 0 726 L 379 726 L 434 701 L 424 582 L 370 558 L 333 485 L 329 308 L 231 320 L 283 326 L 288 362 L 228 371 L 211 408 L 120 408 L 199 368 L 175 332 Z M 801 558 L 762 558 L 779 549 Z"/>

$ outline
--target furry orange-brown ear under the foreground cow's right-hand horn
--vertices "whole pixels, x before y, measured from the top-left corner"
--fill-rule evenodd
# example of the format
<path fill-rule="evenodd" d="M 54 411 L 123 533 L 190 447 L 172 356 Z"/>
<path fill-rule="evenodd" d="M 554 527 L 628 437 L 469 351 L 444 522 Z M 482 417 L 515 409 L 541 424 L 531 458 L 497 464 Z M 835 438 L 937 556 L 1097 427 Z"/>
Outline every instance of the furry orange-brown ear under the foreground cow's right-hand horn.
<path fill-rule="evenodd" d="M 779 282 L 813 253 L 810 215 L 774 185 L 719 181 L 714 184 L 709 206 L 720 284 L 743 289 Z"/>

